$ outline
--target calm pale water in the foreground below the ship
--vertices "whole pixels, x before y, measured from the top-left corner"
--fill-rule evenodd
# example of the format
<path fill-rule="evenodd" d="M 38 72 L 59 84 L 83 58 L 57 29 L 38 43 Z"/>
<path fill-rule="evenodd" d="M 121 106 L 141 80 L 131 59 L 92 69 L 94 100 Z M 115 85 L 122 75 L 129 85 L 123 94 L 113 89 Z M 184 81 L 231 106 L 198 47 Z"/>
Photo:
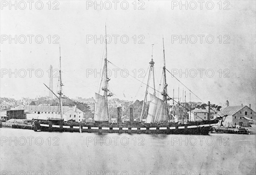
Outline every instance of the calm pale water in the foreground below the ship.
<path fill-rule="evenodd" d="M 255 135 L 47 133 L 1 128 L 0 136 L 2 174 L 217 175 L 256 171 Z"/>

